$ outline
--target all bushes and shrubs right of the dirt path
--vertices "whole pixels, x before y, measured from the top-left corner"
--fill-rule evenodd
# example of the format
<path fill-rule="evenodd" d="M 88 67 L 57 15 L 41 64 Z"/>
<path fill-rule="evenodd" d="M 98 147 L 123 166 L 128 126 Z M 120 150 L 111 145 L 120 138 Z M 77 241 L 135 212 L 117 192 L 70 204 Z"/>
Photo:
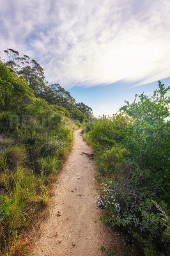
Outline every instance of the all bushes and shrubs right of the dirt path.
<path fill-rule="evenodd" d="M 159 82 L 152 97 L 136 95 L 119 114 L 84 127 L 103 182 L 96 202 L 107 212 L 102 220 L 126 235 L 127 246 L 136 244 L 139 255 L 170 254 L 169 88 Z"/>

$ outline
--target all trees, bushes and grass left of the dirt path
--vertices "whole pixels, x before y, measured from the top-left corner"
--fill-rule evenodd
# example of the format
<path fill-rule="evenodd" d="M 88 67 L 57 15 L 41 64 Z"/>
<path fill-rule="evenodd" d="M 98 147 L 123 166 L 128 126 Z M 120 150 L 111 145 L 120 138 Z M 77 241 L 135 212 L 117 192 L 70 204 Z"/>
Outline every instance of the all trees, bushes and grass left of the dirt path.
<path fill-rule="evenodd" d="M 0 61 L 0 255 L 28 255 L 26 230 L 47 214 L 49 185 L 65 160 L 72 131 L 91 116 L 59 84 L 47 86 L 43 68 L 5 51 Z M 20 64 L 20 65 L 19 65 Z M 33 232 L 34 234 L 34 232 Z"/>

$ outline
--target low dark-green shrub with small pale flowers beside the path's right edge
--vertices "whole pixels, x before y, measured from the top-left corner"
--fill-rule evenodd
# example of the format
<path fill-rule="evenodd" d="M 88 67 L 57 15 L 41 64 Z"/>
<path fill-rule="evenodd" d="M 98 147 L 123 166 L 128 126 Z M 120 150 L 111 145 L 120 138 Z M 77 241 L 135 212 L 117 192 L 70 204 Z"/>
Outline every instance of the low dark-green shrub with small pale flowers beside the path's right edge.
<path fill-rule="evenodd" d="M 127 241 L 134 245 L 134 239 L 144 244 L 144 255 L 160 255 L 167 252 L 169 239 L 162 236 L 164 225 L 155 204 L 142 195 L 125 195 L 114 181 L 102 184 L 102 193 L 95 201 L 107 214 L 102 216 L 109 227 L 120 227 L 127 234 Z M 166 208 L 165 205 L 162 207 Z M 167 255 L 167 254 L 161 254 Z"/>

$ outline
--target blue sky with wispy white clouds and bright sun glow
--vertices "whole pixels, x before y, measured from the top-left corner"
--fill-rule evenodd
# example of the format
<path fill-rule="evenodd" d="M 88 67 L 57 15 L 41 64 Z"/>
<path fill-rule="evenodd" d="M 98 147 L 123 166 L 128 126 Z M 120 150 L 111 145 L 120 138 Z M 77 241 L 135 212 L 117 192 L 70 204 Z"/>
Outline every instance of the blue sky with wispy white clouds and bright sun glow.
<path fill-rule="evenodd" d="M 170 83 L 169 0 L 0 0 L 0 55 L 42 65 L 95 116 Z"/>

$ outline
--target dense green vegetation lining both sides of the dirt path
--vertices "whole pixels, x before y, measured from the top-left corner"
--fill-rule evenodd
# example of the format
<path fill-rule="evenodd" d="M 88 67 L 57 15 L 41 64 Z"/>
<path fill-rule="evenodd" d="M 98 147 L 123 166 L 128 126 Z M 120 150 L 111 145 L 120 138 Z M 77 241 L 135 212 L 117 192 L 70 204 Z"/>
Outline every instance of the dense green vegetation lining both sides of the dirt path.
<path fill-rule="evenodd" d="M 139 255 L 169 255 L 169 87 L 158 83 L 112 117 L 94 120 L 92 109 L 59 84 L 47 85 L 29 56 L 5 51 L 0 61 L 0 255 L 29 254 L 26 230 L 38 228 L 49 185 L 84 122 L 95 149 L 102 190 L 102 220 L 118 228 Z M 42 213 L 43 212 L 43 213 Z M 23 238 L 24 237 L 24 238 Z M 102 250 L 105 250 L 102 248 Z M 108 252 L 118 255 L 116 249 Z"/>

